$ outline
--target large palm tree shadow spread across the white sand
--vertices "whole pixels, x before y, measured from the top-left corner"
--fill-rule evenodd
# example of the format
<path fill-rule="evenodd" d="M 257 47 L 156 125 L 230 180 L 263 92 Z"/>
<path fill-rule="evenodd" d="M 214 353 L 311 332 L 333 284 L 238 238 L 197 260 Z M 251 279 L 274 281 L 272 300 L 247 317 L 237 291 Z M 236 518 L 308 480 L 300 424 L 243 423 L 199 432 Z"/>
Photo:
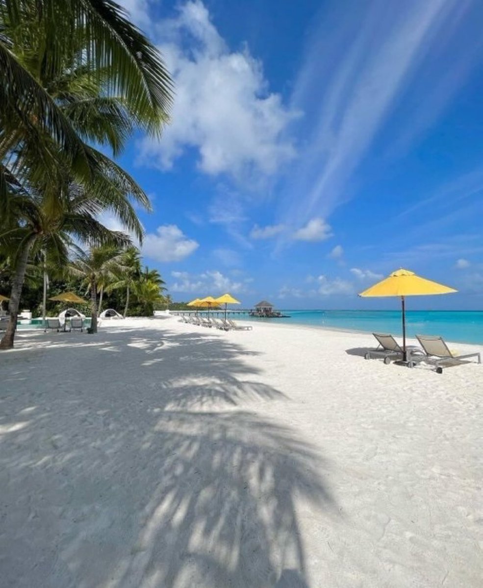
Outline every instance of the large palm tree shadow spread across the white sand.
<path fill-rule="evenodd" d="M 328 465 L 248 410 L 289 402 L 252 352 L 155 329 L 45 340 L 2 363 L 6 585 L 308 587 L 297 503 L 334 506 Z"/>

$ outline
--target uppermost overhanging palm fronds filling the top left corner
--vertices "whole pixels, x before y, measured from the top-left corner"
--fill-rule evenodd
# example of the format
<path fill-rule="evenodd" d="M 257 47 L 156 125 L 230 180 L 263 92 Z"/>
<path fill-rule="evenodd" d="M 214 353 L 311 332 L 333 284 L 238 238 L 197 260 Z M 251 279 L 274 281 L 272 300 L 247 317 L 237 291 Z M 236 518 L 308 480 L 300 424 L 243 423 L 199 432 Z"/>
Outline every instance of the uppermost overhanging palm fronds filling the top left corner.
<path fill-rule="evenodd" d="M 89 84 L 102 86 L 98 102 L 89 96 L 75 107 L 74 118 L 61 108 L 66 97 L 58 82 L 65 81 L 65 72 L 84 76 L 84 90 Z M 112 105 L 112 96 L 121 99 L 122 108 Z M 128 114 L 127 122 L 158 136 L 168 121 L 170 76 L 155 46 L 125 11 L 112 0 L 0 0 L 0 197 L 12 153 L 21 179 L 32 177 L 32 161 L 36 173 L 55 175 L 55 153 L 68 159 L 76 179 L 89 178 L 95 161 L 78 122 L 82 126 L 89 112 L 98 112 L 99 102 L 106 113 L 106 121 L 97 117 L 99 129 L 107 133 L 109 116 L 119 109 Z M 53 152 L 44 138 L 54 142 Z"/>

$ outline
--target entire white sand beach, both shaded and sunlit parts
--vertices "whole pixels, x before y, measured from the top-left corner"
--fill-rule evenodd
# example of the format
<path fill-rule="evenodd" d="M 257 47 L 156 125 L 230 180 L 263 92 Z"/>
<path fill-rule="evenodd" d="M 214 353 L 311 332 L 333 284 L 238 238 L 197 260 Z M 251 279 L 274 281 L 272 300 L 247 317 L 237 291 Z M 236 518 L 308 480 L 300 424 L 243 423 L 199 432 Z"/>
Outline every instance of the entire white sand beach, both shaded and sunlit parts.
<path fill-rule="evenodd" d="M 175 318 L 19 333 L 0 585 L 482 586 L 483 366 L 385 366 L 371 339 Z"/>

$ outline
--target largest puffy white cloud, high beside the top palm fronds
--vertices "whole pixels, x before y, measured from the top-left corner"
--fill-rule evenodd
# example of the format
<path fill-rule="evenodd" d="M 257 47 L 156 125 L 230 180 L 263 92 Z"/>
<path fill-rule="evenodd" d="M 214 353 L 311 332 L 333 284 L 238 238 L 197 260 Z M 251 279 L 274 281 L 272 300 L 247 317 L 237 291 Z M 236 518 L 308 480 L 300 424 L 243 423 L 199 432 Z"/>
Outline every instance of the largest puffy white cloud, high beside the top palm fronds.
<path fill-rule="evenodd" d="M 177 18 L 158 25 L 156 36 L 176 96 L 162 141 L 144 138 L 138 163 L 169 169 L 195 148 L 203 172 L 241 177 L 271 175 L 294 158 L 284 132 L 295 111 L 268 91 L 261 63 L 248 48 L 229 50 L 201 1 L 181 5 Z"/>

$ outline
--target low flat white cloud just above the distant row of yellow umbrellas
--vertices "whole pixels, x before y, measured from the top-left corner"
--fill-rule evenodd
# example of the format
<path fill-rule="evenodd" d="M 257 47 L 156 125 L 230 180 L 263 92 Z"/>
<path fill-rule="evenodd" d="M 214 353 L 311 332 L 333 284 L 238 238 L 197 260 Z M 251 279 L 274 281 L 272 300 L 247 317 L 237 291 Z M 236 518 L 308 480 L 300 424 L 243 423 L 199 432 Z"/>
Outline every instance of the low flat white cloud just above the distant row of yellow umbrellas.
<path fill-rule="evenodd" d="M 251 281 L 246 278 L 242 281 L 236 281 L 228 278 L 218 270 L 206 271 L 200 274 L 190 274 L 188 272 L 171 272 L 175 279 L 173 284 L 169 285 L 172 292 L 196 293 L 198 296 L 221 296 L 225 292 L 244 293 L 247 292 L 247 285 Z"/>

